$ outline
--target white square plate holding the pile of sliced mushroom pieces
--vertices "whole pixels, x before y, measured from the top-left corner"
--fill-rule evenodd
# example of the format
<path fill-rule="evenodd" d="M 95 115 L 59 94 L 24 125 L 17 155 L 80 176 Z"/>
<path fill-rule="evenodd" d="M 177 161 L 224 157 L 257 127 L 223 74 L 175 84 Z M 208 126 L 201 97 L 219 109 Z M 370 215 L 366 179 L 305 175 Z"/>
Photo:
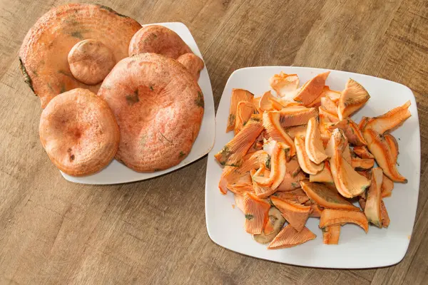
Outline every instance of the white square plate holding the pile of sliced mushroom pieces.
<path fill-rule="evenodd" d="M 399 83 L 381 78 L 344 71 L 331 71 L 326 85 L 334 90 L 342 90 L 348 78 L 361 83 L 371 98 L 364 108 L 352 118 L 360 122 L 362 116 L 374 117 L 391 108 L 412 102 L 409 110 L 412 117 L 392 134 L 399 143 L 398 170 L 407 177 L 407 184 L 395 183 L 392 197 L 384 199 L 391 223 L 387 229 L 370 226 L 368 234 L 354 224 L 345 224 L 340 233 L 338 245 L 322 244 L 322 232 L 318 228 L 319 219 L 310 218 L 307 227 L 317 238 L 289 249 L 267 249 L 258 244 L 243 228 L 245 217 L 235 204 L 233 193 L 220 194 L 218 181 L 222 167 L 213 155 L 233 138 L 233 132 L 225 133 L 230 94 L 232 88 L 249 90 L 256 96 L 270 89 L 269 78 L 276 73 L 296 73 L 300 83 L 305 83 L 325 69 L 290 66 L 268 66 L 243 68 L 230 76 L 223 91 L 217 111 L 217 138 L 213 150 L 208 154 L 208 168 L 205 184 L 205 215 L 208 234 L 213 242 L 222 247 L 247 254 L 252 257 L 272 261 L 325 268 L 369 268 L 388 266 L 401 261 L 409 246 L 414 217 L 417 208 L 420 173 L 420 137 L 417 105 L 412 91 Z"/>

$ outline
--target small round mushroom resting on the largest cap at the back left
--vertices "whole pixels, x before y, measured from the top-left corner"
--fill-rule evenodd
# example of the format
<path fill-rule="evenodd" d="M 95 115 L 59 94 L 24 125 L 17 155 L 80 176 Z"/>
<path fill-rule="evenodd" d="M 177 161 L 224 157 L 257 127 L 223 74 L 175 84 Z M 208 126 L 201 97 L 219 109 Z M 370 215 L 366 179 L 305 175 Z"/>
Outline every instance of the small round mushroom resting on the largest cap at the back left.
<path fill-rule="evenodd" d="M 68 53 L 70 71 L 81 83 L 96 85 L 116 64 L 110 48 L 101 41 L 87 39 L 76 43 Z"/>

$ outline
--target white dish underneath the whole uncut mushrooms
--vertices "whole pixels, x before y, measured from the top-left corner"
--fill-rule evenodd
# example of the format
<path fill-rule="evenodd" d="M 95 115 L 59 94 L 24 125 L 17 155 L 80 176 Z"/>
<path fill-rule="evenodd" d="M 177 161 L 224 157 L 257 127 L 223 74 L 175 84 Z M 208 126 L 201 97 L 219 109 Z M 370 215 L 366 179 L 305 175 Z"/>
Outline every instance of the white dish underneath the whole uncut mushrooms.
<path fill-rule="evenodd" d="M 202 58 L 202 54 L 199 51 L 195 39 L 193 38 L 192 34 L 190 33 L 188 27 L 185 26 L 185 24 L 160 23 L 156 25 L 165 26 L 175 31 L 175 33 L 178 33 L 178 35 L 183 38 L 183 41 L 185 41 L 185 43 L 187 43 L 188 46 L 192 49 L 193 53 Z M 116 184 L 133 182 L 138 180 L 146 180 L 177 170 L 178 168 L 188 165 L 190 162 L 198 160 L 200 157 L 206 155 L 211 150 L 211 148 L 213 148 L 215 138 L 215 111 L 213 90 L 211 89 L 210 77 L 208 76 L 206 66 L 203 68 L 202 71 L 200 71 L 198 83 L 200 88 L 202 89 L 203 98 L 205 100 L 205 112 L 203 114 L 202 125 L 200 126 L 198 138 L 196 138 L 189 155 L 185 157 L 185 159 L 180 162 L 180 164 L 175 165 L 174 167 L 170 167 L 167 170 L 152 173 L 140 173 L 131 170 L 130 168 L 118 162 L 117 160 L 113 160 L 110 165 L 101 170 L 101 172 L 98 172 L 94 175 L 89 175 L 86 177 L 72 177 L 61 172 L 63 177 L 68 181 L 83 184 Z"/>

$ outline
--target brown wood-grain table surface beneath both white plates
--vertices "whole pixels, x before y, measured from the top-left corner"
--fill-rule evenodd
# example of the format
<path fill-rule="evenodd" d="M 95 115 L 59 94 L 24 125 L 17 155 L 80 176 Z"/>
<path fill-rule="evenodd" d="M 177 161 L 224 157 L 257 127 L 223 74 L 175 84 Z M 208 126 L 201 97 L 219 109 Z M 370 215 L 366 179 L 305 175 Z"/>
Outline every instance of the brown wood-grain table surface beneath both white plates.
<path fill-rule="evenodd" d="M 332 68 L 412 88 L 422 136 L 414 232 L 399 264 L 370 270 L 289 266 L 214 244 L 206 157 L 125 185 L 64 180 L 39 142 L 39 98 L 17 56 L 36 19 L 63 2 L 0 0 L 0 284 L 427 284 L 428 1 L 96 1 L 142 24 L 186 24 L 216 105 L 245 66 Z"/>

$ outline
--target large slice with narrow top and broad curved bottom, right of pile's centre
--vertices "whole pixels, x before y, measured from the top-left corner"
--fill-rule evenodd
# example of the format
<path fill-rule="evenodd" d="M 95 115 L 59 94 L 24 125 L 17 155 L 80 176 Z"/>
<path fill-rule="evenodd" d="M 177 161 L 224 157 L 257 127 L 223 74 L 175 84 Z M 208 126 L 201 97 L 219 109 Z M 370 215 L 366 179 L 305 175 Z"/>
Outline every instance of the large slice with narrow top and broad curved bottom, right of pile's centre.
<path fill-rule="evenodd" d="M 332 152 L 332 155 L 329 155 L 331 157 L 330 167 L 337 191 L 344 197 L 352 198 L 361 195 L 370 186 L 370 180 L 356 172 L 352 165 L 344 159 L 344 151 L 349 151 L 347 142 L 344 142 L 346 142 L 346 138 L 342 130 L 334 130 L 329 142 L 330 147 L 327 146 L 327 152 Z"/>

